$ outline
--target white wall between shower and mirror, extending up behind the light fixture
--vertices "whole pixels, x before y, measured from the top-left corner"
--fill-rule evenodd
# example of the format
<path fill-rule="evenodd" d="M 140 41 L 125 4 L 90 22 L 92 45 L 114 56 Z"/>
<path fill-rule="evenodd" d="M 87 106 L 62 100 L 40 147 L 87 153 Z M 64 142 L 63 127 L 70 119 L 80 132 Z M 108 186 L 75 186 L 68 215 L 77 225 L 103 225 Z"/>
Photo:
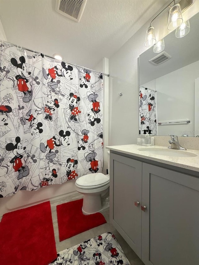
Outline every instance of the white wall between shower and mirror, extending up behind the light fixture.
<path fill-rule="evenodd" d="M 184 20 L 189 19 L 198 11 L 199 0 L 196 0 L 190 8 L 183 12 Z M 146 30 L 157 14 L 109 59 L 110 145 L 135 144 L 137 142 L 139 134 L 138 57 L 147 49 L 144 46 Z M 168 12 L 164 11 L 153 24 L 157 40 L 162 39 L 169 33 L 167 30 L 167 19 Z M 123 92 L 122 97 L 118 95 L 120 92 Z"/>

